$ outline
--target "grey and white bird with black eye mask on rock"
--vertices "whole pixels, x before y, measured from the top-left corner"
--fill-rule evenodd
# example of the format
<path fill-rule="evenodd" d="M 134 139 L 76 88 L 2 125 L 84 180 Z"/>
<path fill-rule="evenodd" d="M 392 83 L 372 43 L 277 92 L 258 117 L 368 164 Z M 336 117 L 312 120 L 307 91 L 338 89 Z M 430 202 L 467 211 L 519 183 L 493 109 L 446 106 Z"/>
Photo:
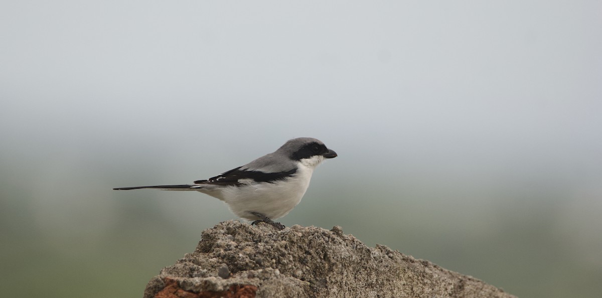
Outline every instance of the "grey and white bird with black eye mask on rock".
<path fill-rule="evenodd" d="M 316 138 L 293 138 L 275 152 L 244 166 L 193 184 L 119 187 L 113 190 L 157 188 L 160 190 L 200 191 L 228 205 L 236 216 L 285 228 L 273 220 L 287 215 L 309 187 L 314 169 L 327 158 L 337 157 Z"/>

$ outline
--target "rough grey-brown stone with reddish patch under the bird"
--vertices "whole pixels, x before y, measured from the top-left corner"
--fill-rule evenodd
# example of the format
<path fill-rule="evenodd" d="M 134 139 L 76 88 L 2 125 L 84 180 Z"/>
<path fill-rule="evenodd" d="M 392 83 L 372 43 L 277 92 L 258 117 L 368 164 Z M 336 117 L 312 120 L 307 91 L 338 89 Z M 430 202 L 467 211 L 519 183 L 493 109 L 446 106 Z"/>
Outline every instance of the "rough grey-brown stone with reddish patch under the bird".
<path fill-rule="evenodd" d="M 220 223 L 193 253 L 161 270 L 145 298 L 514 297 L 471 276 L 386 246 L 367 247 L 336 226 Z"/>

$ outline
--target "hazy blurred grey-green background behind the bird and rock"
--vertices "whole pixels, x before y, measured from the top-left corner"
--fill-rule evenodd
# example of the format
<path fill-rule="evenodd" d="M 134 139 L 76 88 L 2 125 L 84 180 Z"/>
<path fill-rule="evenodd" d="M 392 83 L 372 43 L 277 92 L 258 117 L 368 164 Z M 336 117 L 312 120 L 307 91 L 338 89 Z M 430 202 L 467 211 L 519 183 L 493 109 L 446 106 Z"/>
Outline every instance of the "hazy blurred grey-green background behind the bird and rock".
<path fill-rule="evenodd" d="M 339 157 L 285 225 L 521 297 L 600 297 L 600 3 L 4 1 L 0 293 L 140 297 L 236 217 L 111 188 L 307 136 Z"/>

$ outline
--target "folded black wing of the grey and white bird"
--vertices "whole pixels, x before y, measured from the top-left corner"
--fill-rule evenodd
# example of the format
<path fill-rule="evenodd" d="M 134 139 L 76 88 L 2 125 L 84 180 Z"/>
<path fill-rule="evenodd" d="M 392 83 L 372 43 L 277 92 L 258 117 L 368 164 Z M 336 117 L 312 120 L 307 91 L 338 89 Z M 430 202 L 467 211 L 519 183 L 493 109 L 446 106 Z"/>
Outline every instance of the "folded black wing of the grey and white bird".
<path fill-rule="evenodd" d="M 207 180 L 194 181 L 195 184 L 219 184 L 219 185 L 241 185 L 241 179 L 252 179 L 255 182 L 274 183 L 287 179 L 297 172 L 297 169 L 288 172 L 264 173 L 260 171 L 241 170 L 241 167 L 229 170 L 222 175 L 209 178 Z"/>

